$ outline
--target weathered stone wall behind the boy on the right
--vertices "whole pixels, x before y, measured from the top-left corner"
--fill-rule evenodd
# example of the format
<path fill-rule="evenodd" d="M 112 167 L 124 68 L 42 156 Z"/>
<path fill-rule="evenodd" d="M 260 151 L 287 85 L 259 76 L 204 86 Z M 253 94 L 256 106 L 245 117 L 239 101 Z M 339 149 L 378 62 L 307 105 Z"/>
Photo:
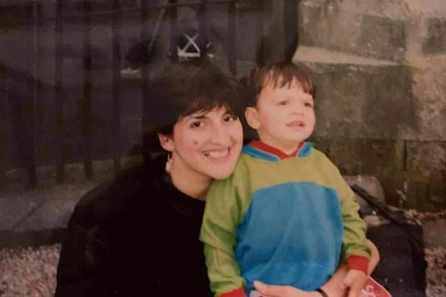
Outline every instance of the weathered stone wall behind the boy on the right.
<path fill-rule="evenodd" d="M 306 0 L 295 61 L 315 73 L 313 141 L 387 202 L 446 207 L 446 3 Z"/>

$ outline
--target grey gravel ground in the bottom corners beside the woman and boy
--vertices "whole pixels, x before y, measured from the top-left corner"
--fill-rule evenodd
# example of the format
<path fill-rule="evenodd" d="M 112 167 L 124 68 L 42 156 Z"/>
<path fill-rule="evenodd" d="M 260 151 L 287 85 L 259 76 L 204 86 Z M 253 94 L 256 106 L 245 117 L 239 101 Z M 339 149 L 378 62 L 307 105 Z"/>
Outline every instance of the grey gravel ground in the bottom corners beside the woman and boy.
<path fill-rule="evenodd" d="M 40 248 L 0 249 L 0 296 L 54 295 L 56 288 L 56 266 L 61 246 Z M 427 297 L 446 296 L 446 249 L 425 249 L 429 268 L 427 275 Z"/>

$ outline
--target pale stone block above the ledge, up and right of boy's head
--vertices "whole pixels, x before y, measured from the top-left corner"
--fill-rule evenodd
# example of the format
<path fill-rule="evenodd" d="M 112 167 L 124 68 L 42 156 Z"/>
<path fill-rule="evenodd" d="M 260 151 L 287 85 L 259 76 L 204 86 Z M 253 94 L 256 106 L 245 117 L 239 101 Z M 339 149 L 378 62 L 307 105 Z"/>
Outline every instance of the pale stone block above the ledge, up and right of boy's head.
<path fill-rule="evenodd" d="M 301 45 L 405 61 L 408 29 L 401 4 L 301 1 L 299 19 Z"/>

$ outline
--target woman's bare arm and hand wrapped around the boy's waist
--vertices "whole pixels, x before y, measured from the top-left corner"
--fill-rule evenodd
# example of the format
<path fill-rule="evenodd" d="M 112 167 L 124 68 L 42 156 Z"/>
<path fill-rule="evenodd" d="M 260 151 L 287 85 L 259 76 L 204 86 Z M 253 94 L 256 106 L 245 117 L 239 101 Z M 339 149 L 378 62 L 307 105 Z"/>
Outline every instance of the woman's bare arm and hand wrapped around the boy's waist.
<path fill-rule="evenodd" d="M 371 258 L 369 262 L 369 275 L 374 271 L 376 265 L 378 265 L 380 256 L 378 252 L 378 248 L 371 241 L 367 240 L 369 244 L 369 248 L 371 249 Z M 325 293 L 329 297 L 343 297 L 346 296 L 346 289 L 341 289 L 341 284 L 344 282 L 344 278 L 347 274 L 347 266 L 341 264 L 337 271 L 334 272 L 330 280 L 323 284 L 321 289 L 325 291 Z M 271 297 L 321 297 L 322 294 L 316 291 L 307 292 L 302 291 L 300 289 L 296 289 L 291 286 L 277 286 L 277 285 L 269 285 L 263 284 L 261 282 L 254 282 L 254 287 L 261 294 Z M 360 292 L 359 292 L 360 293 Z"/>

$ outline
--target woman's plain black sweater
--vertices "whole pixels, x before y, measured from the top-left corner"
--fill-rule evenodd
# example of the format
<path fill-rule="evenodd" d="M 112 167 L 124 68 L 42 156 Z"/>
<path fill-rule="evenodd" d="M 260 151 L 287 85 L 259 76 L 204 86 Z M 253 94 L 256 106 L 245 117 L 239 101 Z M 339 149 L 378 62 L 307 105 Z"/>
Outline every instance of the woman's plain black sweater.
<path fill-rule="evenodd" d="M 57 271 L 61 296 L 212 296 L 199 241 L 204 202 L 178 191 L 165 159 L 80 200 Z"/>

